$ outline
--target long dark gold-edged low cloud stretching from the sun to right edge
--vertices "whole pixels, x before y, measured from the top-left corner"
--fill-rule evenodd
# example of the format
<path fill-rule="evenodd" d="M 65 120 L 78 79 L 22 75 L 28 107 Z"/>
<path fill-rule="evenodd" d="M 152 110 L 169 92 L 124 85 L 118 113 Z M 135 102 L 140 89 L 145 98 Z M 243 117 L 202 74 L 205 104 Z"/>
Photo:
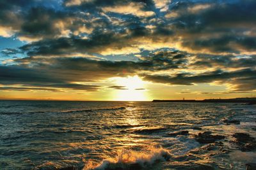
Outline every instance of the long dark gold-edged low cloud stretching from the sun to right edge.
<path fill-rule="evenodd" d="M 221 83 L 230 83 L 235 86 L 236 90 L 253 90 L 256 88 L 256 71 L 255 69 L 241 69 L 237 71 L 221 71 L 191 74 L 181 73 L 174 76 L 161 74 L 143 74 L 144 80 L 156 83 L 168 83 L 171 85 L 193 85 L 195 83 L 211 83 L 220 81 Z"/>

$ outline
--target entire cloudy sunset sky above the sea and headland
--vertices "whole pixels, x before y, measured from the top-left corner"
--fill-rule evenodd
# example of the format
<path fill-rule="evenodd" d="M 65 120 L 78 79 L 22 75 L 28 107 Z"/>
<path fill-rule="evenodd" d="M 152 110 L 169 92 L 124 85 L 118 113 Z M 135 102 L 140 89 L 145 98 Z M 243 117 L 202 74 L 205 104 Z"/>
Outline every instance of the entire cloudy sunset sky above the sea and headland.
<path fill-rule="evenodd" d="M 1 0 L 0 99 L 256 96 L 256 1 Z"/>

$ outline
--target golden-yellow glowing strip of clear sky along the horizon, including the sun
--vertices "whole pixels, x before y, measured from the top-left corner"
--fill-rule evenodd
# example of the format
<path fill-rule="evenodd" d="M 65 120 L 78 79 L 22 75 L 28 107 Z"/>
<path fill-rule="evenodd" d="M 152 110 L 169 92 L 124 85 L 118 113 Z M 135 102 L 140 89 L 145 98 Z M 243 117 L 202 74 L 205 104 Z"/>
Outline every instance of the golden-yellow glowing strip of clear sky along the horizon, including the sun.
<path fill-rule="evenodd" d="M 250 94 L 223 93 L 226 85 L 198 83 L 193 86 L 164 85 L 141 80 L 140 76 L 113 77 L 92 85 L 101 88 L 95 91 L 56 89 L 50 90 L 0 90 L 0 99 L 60 100 L 60 101 L 152 101 L 153 99 L 228 99 L 254 97 Z M 109 87 L 115 87 L 109 88 Z M 20 87 L 20 86 L 13 86 Z M 120 87 L 120 89 L 118 89 Z M 208 92 L 208 93 L 207 93 Z"/>

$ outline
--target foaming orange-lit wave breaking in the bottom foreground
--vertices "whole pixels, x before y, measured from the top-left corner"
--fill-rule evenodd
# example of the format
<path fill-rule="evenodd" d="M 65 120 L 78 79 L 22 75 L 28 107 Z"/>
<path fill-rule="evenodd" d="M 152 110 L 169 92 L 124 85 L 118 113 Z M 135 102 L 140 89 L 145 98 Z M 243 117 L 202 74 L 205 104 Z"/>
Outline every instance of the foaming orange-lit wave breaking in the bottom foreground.
<path fill-rule="evenodd" d="M 141 152 L 122 150 L 115 158 L 105 159 L 100 164 L 88 162 L 83 170 L 150 169 L 157 162 L 168 161 L 172 156 L 168 150 L 154 146 Z"/>

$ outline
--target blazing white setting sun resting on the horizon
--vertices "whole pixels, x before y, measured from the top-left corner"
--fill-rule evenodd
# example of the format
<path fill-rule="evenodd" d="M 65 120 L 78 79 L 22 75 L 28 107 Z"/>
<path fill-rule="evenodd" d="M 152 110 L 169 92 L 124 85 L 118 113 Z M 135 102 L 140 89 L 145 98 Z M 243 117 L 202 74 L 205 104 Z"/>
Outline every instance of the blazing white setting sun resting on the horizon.
<path fill-rule="evenodd" d="M 124 90 L 115 90 L 115 101 L 147 101 L 148 94 L 145 89 L 145 81 L 139 76 L 127 76 L 114 78 L 115 85 L 124 87 Z"/>

